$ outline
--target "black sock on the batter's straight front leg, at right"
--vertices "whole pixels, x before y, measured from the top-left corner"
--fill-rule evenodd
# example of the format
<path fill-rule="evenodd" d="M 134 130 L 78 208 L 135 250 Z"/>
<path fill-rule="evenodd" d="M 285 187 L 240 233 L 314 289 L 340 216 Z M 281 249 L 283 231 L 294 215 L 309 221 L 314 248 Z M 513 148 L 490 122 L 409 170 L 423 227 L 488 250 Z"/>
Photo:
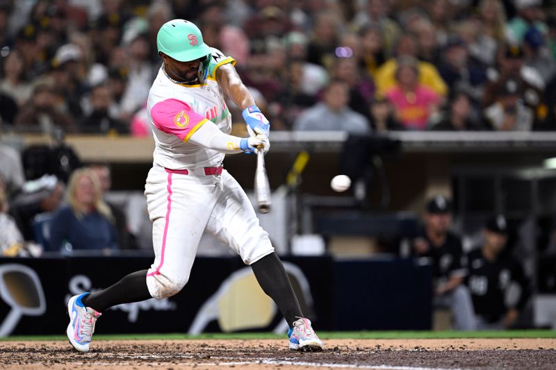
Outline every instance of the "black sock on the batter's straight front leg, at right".
<path fill-rule="evenodd" d="M 275 301 L 280 312 L 288 321 L 288 325 L 293 326 L 296 317 L 303 317 L 303 314 L 288 274 L 286 274 L 278 255 L 276 253 L 265 255 L 251 267 L 263 291 Z"/>

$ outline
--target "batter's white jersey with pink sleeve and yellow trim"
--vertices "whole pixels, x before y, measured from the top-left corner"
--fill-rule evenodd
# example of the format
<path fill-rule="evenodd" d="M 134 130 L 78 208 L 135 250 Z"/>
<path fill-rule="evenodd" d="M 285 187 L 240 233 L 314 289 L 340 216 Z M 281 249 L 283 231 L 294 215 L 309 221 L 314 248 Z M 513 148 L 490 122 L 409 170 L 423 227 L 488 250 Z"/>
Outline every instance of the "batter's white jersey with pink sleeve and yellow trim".
<path fill-rule="evenodd" d="M 172 82 L 163 69 L 149 92 L 147 112 L 156 147 L 154 162 L 169 169 L 212 167 L 224 160 L 224 153 L 203 148 L 188 140 L 199 127 L 212 121 L 224 133 L 231 131 L 231 115 L 216 82 L 216 70 L 236 60 L 211 48 L 208 77 L 202 85 Z"/>

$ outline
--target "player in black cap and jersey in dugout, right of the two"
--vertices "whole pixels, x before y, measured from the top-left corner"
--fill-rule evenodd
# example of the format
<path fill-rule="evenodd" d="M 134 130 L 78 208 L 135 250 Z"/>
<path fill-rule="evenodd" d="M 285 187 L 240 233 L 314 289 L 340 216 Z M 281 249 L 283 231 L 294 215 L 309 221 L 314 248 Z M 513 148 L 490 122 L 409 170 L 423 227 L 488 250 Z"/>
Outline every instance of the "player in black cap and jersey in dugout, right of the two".
<path fill-rule="evenodd" d="M 484 242 L 468 253 L 466 285 L 478 330 L 512 328 L 530 296 L 521 264 L 507 251 L 509 225 L 498 215 L 486 222 Z"/>

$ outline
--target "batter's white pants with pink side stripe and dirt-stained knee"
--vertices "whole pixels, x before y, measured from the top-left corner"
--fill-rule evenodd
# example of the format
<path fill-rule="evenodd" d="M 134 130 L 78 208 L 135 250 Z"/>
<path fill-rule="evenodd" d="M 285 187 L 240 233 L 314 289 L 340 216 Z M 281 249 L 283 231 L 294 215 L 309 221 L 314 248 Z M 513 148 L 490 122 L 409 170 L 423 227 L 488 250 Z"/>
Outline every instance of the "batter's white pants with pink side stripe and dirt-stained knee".
<path fill-rule="evenodd" d="M 220 176 L 207 176 L 202 170 L 183 174 L 154 165 L 147 176 L 155 255 L 147 287 L 156 299 L 173 296 L 186 285 L 205 230 L 229 245 L 245 264 L 274 252 L 236 179 L 225 170 Z"/>

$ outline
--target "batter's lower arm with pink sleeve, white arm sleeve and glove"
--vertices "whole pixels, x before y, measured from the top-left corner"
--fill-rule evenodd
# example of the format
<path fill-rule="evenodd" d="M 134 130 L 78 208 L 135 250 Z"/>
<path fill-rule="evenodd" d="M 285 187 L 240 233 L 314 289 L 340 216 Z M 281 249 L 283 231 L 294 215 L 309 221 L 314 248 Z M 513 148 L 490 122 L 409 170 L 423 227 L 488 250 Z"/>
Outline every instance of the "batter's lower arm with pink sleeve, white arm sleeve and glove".
<path fill-rule="evenodd" d="M 255 146 L 268 151 L 270 143 L 266 137 L 237 137 L 227 135 L 191 107 L 177 99 L 166 99 L 150 108 L 154 126 L 169 135 L 174 135 L 208 149 L 221 153 L 253 152 Z"/>

